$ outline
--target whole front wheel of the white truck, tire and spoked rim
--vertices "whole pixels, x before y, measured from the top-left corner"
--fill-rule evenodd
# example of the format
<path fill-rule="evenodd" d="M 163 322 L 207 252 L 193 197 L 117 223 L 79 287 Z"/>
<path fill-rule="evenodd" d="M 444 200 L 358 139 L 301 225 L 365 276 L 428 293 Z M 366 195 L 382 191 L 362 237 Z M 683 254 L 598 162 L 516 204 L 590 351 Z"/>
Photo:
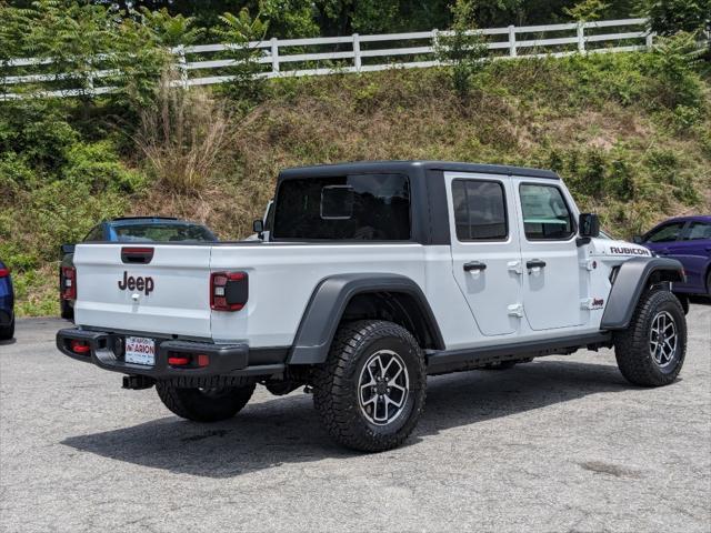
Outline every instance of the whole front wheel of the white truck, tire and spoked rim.
<path fill-rule="evenodd" d="M 622 375 L 635 385 L 661 386 L 679 375 L 687 353 L 687 319 L 671 292 L 642 294 L 627 330 L 614 335 Z"/>

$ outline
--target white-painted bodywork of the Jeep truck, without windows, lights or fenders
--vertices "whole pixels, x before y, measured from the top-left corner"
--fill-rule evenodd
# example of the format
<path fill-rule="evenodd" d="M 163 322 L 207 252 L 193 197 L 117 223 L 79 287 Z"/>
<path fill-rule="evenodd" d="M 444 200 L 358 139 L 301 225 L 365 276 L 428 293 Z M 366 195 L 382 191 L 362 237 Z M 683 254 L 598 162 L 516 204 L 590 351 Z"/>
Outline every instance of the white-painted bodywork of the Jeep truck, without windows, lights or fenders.
<path fill-rule="evenodd" d="M 451 182 L 457 178 L 502 183 L 509 224 L 505 240 L 458 242 L 451 209 Z M 127 244 L 79 244 L 74 254 L 76 322 L 146 336 L 152 333 L 217 343 L 244 342 L 251 348 L 290 346 L 322 280 L 344 273 L 388 273 L 408 276 L 420 286 L 447 350 L 599 331 L 612 268 L 647 250 L 603 239 L 579 247 L 575 237 L 527 241 L 518 192 L 521 182 L 559 187 L 577 219 L 578 210 L 562 182 L 447 172 L 451 245 L 166 243 L 150 244 L 154 255 L 149 264 L 123 264 L 121 248 Z M 525 262 L 531 259 L 545 261 L 545 268 L 527 272 Z M 463 263 L 473 260 L 487 263 L 487 270 L 464 272 Z M 210 273 L 220 271 L 248 272 L 249 300 L 241 311 L 210 310 Z M 151 276 L 152 293 L 120 290 L 118 283 L 124 272 Z M 512 313 L 511 305 L 518 304 L 520 313 Z"/>

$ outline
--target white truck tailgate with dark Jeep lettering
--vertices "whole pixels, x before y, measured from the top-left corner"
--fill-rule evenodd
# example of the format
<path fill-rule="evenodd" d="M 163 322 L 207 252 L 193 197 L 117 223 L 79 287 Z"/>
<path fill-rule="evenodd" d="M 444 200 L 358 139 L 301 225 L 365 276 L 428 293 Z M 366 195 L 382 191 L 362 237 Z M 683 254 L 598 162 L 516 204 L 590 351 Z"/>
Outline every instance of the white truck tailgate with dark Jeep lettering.
<path fill-rule="evenodd" d="M 209 244 L 77 245 L 76 323 L 210 338 L 211 250 Z"/>

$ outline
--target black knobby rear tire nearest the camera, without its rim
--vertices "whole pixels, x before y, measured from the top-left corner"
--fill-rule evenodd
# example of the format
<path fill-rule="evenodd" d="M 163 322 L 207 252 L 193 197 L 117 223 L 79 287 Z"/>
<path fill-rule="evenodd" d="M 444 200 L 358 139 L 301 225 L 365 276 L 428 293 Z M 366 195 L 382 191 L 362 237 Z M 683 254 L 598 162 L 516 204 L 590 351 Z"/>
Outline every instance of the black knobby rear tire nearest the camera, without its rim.
<path fill-rule="evenodd" d="M 384 425 L 373 424 L 359 399 L 360 376 L 369 358 L 392 351 L 401 359 L 409 379 L 407 400 L 400 414 Z M 412 334 L 385 321 L 343 323 L 331 344 L 328 360 L 313 376 L 313 404 L 333 440 L 362 452 L 399 446 L 417 425 L 427 394 L 424 355 Z"/>

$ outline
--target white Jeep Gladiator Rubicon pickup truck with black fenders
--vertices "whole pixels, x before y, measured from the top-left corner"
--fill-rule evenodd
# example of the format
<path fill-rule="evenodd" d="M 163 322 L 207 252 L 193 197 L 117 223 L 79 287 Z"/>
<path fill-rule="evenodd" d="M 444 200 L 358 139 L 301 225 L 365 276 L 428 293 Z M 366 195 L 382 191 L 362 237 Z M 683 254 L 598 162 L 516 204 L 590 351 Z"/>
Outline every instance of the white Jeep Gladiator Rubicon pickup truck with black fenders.
<path fill-rule="evenodd" d="M 262 221 L 256 231 L 264 230 Z M 427 375 L 614 348 L 635 385 L 684 361 L 681 264 L 599 239 L 550 171 L 391 161 L 284 170 L 268 238 L 87 243 L 59 350 L 156 386 L 179 416 L 233 416 L 304 386 L 339 443 L 381 451 Z"/>

